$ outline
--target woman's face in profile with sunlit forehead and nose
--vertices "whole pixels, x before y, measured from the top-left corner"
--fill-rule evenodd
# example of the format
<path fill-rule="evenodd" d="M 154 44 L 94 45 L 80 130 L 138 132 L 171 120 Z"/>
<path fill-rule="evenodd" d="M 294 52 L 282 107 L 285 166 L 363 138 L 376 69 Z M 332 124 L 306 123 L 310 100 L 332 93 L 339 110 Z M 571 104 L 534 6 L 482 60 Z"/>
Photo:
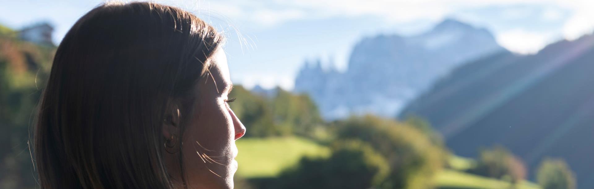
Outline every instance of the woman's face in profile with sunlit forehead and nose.
<path fill-rule="evenodd" d="M 245 127 L 229 107 L 232 89 L 225 52 L 210 59 L 210 72 L 198 83 L 196 111 L 184 132 L 183 159 L 188 188 L 233 188 L 238 164 L 235 140 Z"/>

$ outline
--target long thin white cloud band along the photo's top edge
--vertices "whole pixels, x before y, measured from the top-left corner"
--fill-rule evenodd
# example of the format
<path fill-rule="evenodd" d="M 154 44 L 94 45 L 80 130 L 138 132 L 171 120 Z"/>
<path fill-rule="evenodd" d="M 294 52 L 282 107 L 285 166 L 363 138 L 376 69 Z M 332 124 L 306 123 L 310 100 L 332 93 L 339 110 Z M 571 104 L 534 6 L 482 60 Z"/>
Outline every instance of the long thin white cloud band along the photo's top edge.
<path fill-rule="evenodd" d="M 175 0 L 174 0 L 175 1 Z M 179 1 L 179 0 L 178 0 Z M 198 1 L 200 2 L 200 1 Z M 524 0 L 522 2 L 538 2 Z M 377 15 L 391 22 L 419 19 L 441 20 L 461 7 L 517 4 L 517 0 L 503 1 L 433 1 L 433 0 L 268 0 L 268 1 L 207 1 L 195 3 L 194 9 L 209 9 L 228 17 L 270 25 L 296 19 L 320 19 L 335 16 Z M 187 6 L 186 6 L 187 7 Z M 307 12 L 307 14 L 306 14 Z M 516 13 L 522 13 L 516 12 Z"/>

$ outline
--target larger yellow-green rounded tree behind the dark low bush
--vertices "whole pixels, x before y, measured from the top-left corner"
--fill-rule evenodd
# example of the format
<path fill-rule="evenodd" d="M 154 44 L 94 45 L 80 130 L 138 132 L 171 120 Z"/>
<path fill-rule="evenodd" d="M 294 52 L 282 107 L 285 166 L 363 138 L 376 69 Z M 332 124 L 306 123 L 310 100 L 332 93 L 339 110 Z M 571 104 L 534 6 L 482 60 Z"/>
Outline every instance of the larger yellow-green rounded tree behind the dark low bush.
<path fill-rule="evenodd" d="M 431 188 L 443 167 L 444 150 L 409 124 L 365 116 L 336 121 L 333 127 L 337 138 L 363 140 L 386 158 L 391 172 L 378 188 Z"/>

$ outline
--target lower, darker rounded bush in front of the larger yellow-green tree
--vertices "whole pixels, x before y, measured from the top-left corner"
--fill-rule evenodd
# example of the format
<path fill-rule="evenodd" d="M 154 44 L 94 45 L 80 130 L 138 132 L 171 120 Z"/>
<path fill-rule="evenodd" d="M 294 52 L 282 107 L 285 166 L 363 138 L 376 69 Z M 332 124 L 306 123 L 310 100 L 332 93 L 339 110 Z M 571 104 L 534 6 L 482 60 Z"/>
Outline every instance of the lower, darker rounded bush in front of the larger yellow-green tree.
<path fill-rule="evenodd" d="M 337 142 L 332 149 L 330 158 L 302 158 L 282 172 L 274 188 L 370 188 L 388 175 L 386 160 L 360 140 Z"/>

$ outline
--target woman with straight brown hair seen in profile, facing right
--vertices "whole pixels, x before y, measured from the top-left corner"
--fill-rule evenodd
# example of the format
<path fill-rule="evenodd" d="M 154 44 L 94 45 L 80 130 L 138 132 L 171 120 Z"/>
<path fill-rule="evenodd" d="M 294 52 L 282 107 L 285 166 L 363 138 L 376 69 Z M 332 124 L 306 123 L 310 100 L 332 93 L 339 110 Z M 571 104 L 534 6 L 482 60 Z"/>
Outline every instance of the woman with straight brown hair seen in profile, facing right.
<path fill-rule="evenodd" d="M 223 37 L 195 15 L 108 3 L 68 31 L 39 105 L 42 188 L 233 188 Z"/>

